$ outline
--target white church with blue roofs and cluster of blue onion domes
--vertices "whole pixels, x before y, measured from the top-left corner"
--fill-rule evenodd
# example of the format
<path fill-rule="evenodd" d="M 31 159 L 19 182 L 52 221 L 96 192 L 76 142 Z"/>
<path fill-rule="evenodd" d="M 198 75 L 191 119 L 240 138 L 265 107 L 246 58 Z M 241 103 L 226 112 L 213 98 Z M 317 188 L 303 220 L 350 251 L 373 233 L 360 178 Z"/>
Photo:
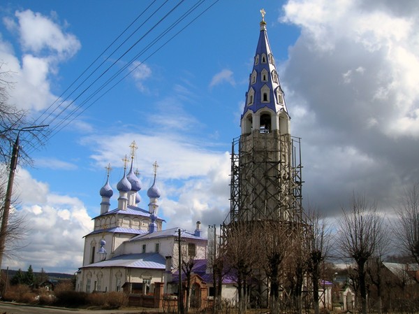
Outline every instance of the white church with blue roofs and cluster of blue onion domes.
<path fill-rule="evenodd" d="M 164 283 L 165 293 L 171 274 L 177 269 L 179 228 L 163 230 L 159 216 L 159 187 L 154 182 L 147 190 L 147 209 L 140 207 L 141 181 L 133 171 L 135 142 L 131 147 L 131 168 L 117 183 L 117 208 L 110 210 L 113 190 L 108 178 L 100 190 L 101 213 L 93 218 L 94 229 L 84 236 L 83 264 L 76 273 L 76 290 L 80 292 L 126 291 L 153 292 L 154 283 Z M 200 222 L 194 231 L 180 229 L 181 252 L 186 258 L 206 259 L 207 239 Z M 176 287 L 173 285 L 173 287 Z M 138 291 L 140 290 L 140 291 Z"/>

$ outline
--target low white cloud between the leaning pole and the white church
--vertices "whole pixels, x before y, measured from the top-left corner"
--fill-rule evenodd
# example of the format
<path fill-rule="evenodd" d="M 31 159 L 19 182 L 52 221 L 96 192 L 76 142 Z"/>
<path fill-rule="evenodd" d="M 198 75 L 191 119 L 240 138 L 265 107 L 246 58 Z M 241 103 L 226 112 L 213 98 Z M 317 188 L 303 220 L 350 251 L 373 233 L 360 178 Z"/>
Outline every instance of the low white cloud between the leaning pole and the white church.
<path fill-rule="evenodd" d="M 35 271 L 76 271 L 82 265 L 82 237 L 93 229 L 82 201 L 50 192 L 24 169 L 15 183 L 22 200 L 18 213 L 26 215 L 30 236 L 22 241 L 17 257 L 6 259 L 4 266 L 26 270 L 31 264 Z"/>

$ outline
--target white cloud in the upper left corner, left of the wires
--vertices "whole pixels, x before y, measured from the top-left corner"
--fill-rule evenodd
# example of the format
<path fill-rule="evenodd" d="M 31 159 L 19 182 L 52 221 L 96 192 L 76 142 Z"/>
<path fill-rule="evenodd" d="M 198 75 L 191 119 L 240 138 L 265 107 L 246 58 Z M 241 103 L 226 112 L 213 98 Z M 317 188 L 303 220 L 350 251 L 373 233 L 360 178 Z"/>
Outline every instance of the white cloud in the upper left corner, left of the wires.
<path fill-rule="evenodd" d="M 42 110 L 57 97 L 52 94 L 50 80 L 57 65 L 73 57 L 80 50 L 80 42 L 67 34 L 52 18 L 31 10 L 17 11 L 15 17 L 6 17 L 3 23 L 15 31 L 23 50 L 17 57 L 13 45 L 0 36 L 1 71 L 10 71 L 10 104 L 27 110 Z"/>

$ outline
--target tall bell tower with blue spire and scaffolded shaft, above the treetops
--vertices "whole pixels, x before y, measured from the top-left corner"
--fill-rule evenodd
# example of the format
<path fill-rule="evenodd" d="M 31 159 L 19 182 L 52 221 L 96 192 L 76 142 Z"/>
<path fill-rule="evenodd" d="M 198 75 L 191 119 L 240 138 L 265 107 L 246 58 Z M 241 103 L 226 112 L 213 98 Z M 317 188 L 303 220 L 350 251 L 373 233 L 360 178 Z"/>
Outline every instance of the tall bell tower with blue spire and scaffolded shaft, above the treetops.
<path fill-rule="evenodd" d="M 300 221 L 300 138 L 291 136 L 284 91 L 267 38 L 265 10 L 249 76 L 241 134 L 232 143 L 230 222 Z"/>

